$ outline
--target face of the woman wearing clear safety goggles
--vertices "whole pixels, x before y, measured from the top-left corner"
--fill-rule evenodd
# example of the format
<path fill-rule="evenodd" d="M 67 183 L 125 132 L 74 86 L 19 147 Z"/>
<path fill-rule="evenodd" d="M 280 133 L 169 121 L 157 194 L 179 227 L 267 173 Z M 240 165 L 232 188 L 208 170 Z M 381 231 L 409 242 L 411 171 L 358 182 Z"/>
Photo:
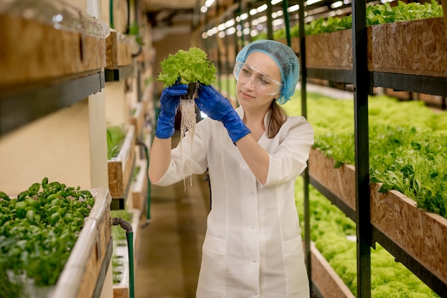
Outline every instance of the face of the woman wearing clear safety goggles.
<path fill-rule="evenodd" d="M 279 68 L 273 59 L 271 59 L 268 55 L 255 51 L 248 55 L 244 63 L 253 67 L 253 69 L 256 69 L 257 71 L 270 76 L 272 79 L 281 82 L 281 73 L 279 72 Z M 262 79 L 259 77 L 260 74 L 258 73 L 253 73 L 251 75 L 253 75 L 253 79 L 255 80 Z M 273 95 L 261 94 L 260 92 L 256 91 L 255 87 L 253 86 L 253 82 L 254 81 L 251 79 L 246 81 L 246 83 L 242 83 L 241 80 L 237 81 L 236 95 L 238 97 L 239 104 L 244 107 L 256 108 L 266 106 L 268 109 L 271 105 L 271 101 L 279 97 L 280 91 Z"/>

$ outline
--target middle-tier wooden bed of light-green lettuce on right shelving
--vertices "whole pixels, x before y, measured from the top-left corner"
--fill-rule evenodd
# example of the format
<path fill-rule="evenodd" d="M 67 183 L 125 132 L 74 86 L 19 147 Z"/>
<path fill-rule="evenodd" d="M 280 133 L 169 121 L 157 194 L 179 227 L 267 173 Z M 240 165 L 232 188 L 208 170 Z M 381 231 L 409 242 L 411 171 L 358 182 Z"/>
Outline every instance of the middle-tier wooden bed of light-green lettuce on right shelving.
<path fill-rule="evenodd" d="M 378 137 L 378 139 L 370 139 L 372 146 L 378 146 L 380 139 L 383 139 L 383 141 L 394 140 L 397 147 L 400 142 L 402 142 L 401 146 L 406 146 L 406 141 L 400 139 L 399 136 L 407 139 L 413 138 L 411 142 L 408 141 L 408 144 L 413 146 L 411 157 L 416 160 L 416 149 L 419 148 L 419 143 L 416 138 L 418 134 L 415 131 L 425 131 L 425 136 L 428 140 L 430 136 L 433 137 L 432 143 L 426 144 L 422 140 L 419 141 L 423 149 L 425 148 L 424 146 L 429 146 L 429 144 L 437 148 L 437 139 L 441 139 L 441 144 L 442 140 L 446 139 L 442 137 L 446 135 L 447 130 L 447 114 L 445 112 L 433 113 L 433 111 L 424 107 L 421 101 L 402 103 L 381 96 L 371 98 L 370 103 L 370 125 L 373 127 L 373 130 L 376 127 L 389 127 L 388 130 L 383 129 L 383 131 L 388 131 L 388 135 L 372 134 L 374 137 Z M 316 131 L 316 147 L 323 149 L 325 152 L 323 154 L 320 149 L 312 149 L 308 164 L 309 174 L 312 179 L 340 198 L 348 206 L 348 209 L 355 210 L 355 169 L 353 166 L 346 164 L 346 160 L 352 160 L 354 154 L 352 104 L 353 101 L 351 100 L 335 100 L 328 99 L 321 94 L 308 94 L 308 119 Z M 289 114 L 299 114 L 298 106 L 298 101 L 291 101 L 291 103 L 286 104 L 286 109 L 288 109 Z M 408 116 L 406 115 L 415 114 L 416 111 L 418 118 L 411 119 L 411 122 L 408 121 Z M 403 129 L 405 125 L 415 126 L 416 128 L 406 130 Z M 380 129 L 376 130 L 380 131 Z M 436 133 L 433 131 L 436 131 Z M 441 151 L 435 154 L 438 159 L 441 159 L 439 168 L 436 168 L 436 163 L 430 162 L 430 157 L 427 157 L 427 159 L 421 157 L 421 162 L 425 160 L 426 168 L 428 168 L 424 170 L 427 170 L 429 173 L 430 171 L 433 172 L 434 169 L 441 177 L 445 175 L 443 174 L 445 170 L 443 170 L 442 164 L 444 167 L 446 164 L 445 154 L 442 154 L 443 147 L 445 146 L 441 146 Z M 370 151 L 373 154 L 377 150 L 374 148 Z M 407 160 L 399 155 L 403 150 L 388 150 L 393 151 L 392 153 L 396 155 L 395 158 L 398 161 Z M 328 158 L 327 155 L 333 158 Z M 386 163 L 387 160 L 391 162 L 390 158 L 383 154 L 379 159 L 379 163 Z M 376 159 L 376 157 L 371 155 L 371 159 Z M 443 163 L 442 160 L 444 160 Z M 408 161 L 411 161 L 411 158 Z M 371 165 L 375 166 L 373 162 L 371 162 Z M 433 165 L 432 169 L 430 168 L 431 165 Z M 386 169 L 386 167 L 384 166 L 381 170 L 383 169 Z M 403 169 L 406 168 L 403 167 Z M 436 169 L 439 169 L 439 172 Z M 397 174 L 400 170 L 400 168 L 396 169 Z M 417 169 L 415 171 L 417 177 Z M 386 175 L 376 173 L 375 169 L 371 169 L 371 173 L 372 177 L 386 177 Z M 391 173 L 393 172 L 388 169 L 388 177 L 393 177 Z M 439 214 L 426 212 L 418 208 L 429 207 L 431 204 L 433 204 L 433 207 L 438 206 L 437 203 L 435 204 L 435 201 L 430 202 L 427 200 L 428 198 L 424 200 L 417 199 L 418 207 L 416 207 L 415 201 L 404 196 L 401 192 L 392 190 L 391 182 L 393 182 L 393 179 L 385 179 L 384 181 L 387 184 L 385 190 L 388 189 L 388 192 L 378 192 L 381 186 L 383 186 L 381 183 L 373 183 L 371 185 L 371 224 L 420 264 L 423 264 L 439 280 L 444 282 L 447 272 L 445 261 L 447 249 L 443 247 L 443 243 L 446 243 L 447 219 Z M 406 178 L 403 178 L 403 181 L 406 181 Z M 434 184 L 431 187 L 429 183 L 435 183 L 436 179 L 426 179 L 423 181 L 423 186 L 427 189 L 438 189 L 439 192 L 439 189 L 445 187 L 445 182 L 443 184 L 442 181 L 441 179 L 441 184 L 436 184 L 436 187 Z M 399 185 L 395 184 L 395 187 L 399 187 Z M 422 189 L 422 187 L 419 189 Z M 403 189 L 402 192 L 408 191 Z M 419 192 L 419 194 L 421 193 Z M 442 196 L 443 193 L 445 194 L 445 192 L 441 192 L 440 195 Z M 443 210 L 444 213 L 442 213 Z M 438 209 L 438 212 L 445 216 L 445 209 Z M 355 258 L 352 261 L 355 263 Z M 352 265 L 355 266 L 355 264 Z M 392 280 L 391 278 L 390 282 Z"/>

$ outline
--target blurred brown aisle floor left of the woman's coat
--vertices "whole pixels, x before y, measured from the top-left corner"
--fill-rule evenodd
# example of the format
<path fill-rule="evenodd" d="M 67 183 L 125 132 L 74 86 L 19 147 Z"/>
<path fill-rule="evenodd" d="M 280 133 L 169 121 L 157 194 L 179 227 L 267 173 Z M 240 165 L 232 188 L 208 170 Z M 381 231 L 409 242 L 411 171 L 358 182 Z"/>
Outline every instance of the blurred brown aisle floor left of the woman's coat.
<path fill-rule="evenodd" d="M 173 141 L 174 143 L 174 141 Z M 209 212 L 209 183 L 194 176 L 151 186 L 151 223 L 140 229 L 135 298 L 194 298 Z"/>

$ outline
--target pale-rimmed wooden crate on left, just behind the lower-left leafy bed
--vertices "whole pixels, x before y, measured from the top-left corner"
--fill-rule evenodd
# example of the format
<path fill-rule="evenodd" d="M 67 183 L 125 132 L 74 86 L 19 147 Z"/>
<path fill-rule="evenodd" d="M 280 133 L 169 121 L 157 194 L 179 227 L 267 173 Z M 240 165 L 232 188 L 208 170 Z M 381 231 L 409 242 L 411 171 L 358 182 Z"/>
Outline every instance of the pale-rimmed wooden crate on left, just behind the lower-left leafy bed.
<path fill-rule="evenodd" d="M 135 162 L 135 141 L 135 127 L 128 126 L 126 139 L 118 155 L 108 161 L 109 189 L 112 199 L 123 199 L 126 196 Z"/>

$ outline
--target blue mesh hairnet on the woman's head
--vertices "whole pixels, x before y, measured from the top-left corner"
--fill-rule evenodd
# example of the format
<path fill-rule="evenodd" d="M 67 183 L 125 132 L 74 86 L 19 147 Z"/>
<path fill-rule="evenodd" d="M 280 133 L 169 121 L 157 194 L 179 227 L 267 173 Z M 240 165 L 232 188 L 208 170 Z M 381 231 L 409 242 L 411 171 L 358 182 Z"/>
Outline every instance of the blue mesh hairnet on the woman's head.
<path fill-rule="evenodd" d="M 266 54 L 278 65 L 279 71 L 281 72 L 281 83 L 284 85 L 276 101 L 278 101 L 278 104 L 285 104 L 295 93 L 296 84 L 298 84 L 299 79 L 300 65 L 295 52 L 279 41 L 261 39 L 244 46 L 236 56 L 236 62 L 240 61 L 245 63 L 248 55 L 253 53 L 253 51 Z"/>

